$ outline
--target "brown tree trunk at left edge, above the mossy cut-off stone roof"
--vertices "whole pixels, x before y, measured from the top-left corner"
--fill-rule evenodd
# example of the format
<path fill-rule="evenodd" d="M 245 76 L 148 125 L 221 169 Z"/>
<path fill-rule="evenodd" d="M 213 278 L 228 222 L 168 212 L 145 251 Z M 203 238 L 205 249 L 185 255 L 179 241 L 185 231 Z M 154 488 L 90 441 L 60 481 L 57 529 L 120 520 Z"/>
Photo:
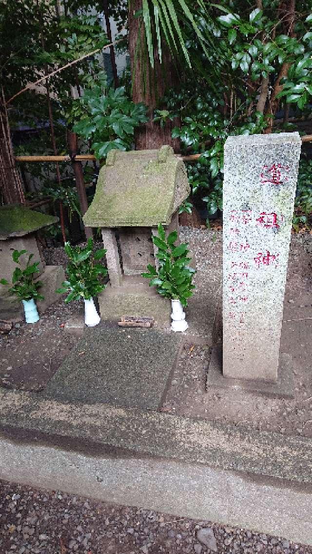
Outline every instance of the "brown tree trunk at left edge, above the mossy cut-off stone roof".
<path fill-rule="evenodd" d="M 24 190 L 13 156 L 6 102 L 0 99 L 0 203 L 24 204 Z"/>

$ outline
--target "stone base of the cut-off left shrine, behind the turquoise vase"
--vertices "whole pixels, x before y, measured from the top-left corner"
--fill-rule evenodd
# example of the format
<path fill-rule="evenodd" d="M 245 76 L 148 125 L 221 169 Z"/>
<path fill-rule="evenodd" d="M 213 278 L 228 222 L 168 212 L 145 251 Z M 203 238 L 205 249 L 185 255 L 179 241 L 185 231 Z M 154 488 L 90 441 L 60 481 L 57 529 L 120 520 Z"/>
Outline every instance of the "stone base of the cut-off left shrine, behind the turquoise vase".
<path fill-rule="evenodd" d="M 55 290 L 60 287 L 64 279 L 65 271 L 62 265 L 45 266 L 44 273 L 38 277 L 38 280 L 43 283 L 40 293 L 44 296 L 44 300 L 37 300 L 36 302 L 39 314 L 43 314 L 49 306 L 60 299 L 60 295 Z M 18 300 L 16 296 L 9 296 L 6 291 L 2 291 L 0 295 L 0 319 L 13 322 L 23 321 L 24 319 L 21 300 Z"/>

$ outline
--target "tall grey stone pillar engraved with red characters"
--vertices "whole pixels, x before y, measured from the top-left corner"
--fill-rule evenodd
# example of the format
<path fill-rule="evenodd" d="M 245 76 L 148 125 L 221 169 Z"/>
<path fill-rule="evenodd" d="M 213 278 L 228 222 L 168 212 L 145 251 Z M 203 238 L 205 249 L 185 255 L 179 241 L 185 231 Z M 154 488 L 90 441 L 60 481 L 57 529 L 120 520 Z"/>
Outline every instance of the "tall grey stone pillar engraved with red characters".
<path fill-rule="evenodd" d="M 224 147 L 224 377 L 277 381 L 300 146 L 295 132 Z"/>

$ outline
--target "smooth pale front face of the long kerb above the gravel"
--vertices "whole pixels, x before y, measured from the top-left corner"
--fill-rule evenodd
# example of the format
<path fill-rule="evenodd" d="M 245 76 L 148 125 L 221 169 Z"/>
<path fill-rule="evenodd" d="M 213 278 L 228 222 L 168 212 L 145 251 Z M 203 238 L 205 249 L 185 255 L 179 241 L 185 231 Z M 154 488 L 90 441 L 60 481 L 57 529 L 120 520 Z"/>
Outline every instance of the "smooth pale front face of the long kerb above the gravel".
<path fill-rule="evenodd" d="M 140 506 L 145 510 L 175 514 L 178 519 L 187 516 L 219 522 L 312 545 L 310 485 L 291 486 L 274 479 L 254 480 L 248 475 L 229 473 L 204 464 L 185 464 L 131 454 L 124 457 L 114 457 L 109 453 L 94 456 L 49 445 L 18 444 L 2 438 L 0 456 L 0 479 L 65 491 L 109 504 Z M 263 548 L 264 554 L 267 550 L 264 545 Z M 166 548 L 165 551 L 176 552 L 176 549 Z M 208 552 L 214 551 L 208 548 Z M 246 551 L 255 552 L 252 548 L 245 548 Z M 139 552 L 141 549 L 136 548 L 135 554 Z M 238 551 L 230 547 L 227 552 L 242 552 L 242 548 Z M 283 552 L 286 554 L 290 550 L 285 548 Z M 300 552 L 306 551 L 300 549 Z"/>

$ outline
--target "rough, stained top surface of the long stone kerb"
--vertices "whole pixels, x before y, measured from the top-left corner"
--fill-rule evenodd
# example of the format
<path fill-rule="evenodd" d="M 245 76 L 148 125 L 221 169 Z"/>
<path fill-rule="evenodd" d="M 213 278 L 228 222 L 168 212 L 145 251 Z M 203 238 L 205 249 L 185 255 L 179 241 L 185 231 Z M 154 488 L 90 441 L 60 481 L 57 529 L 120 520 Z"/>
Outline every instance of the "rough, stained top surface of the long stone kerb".
<path fill-rule="evenodd" d="M 312 440 L 107 404 L 75 404 L 0 389 L 0 429 L 100 455 L 107 448 L 312 484 Z M 63 441 L 63 443 L 62 443 Z M 0 441 L 1 442 L 1 441 Z M 87 442 L 87 443 L 86 443 Z M 94 445 L 93 449 L 90 445 Z M 274 453 L 274 455 L 272 454 Z"/>

